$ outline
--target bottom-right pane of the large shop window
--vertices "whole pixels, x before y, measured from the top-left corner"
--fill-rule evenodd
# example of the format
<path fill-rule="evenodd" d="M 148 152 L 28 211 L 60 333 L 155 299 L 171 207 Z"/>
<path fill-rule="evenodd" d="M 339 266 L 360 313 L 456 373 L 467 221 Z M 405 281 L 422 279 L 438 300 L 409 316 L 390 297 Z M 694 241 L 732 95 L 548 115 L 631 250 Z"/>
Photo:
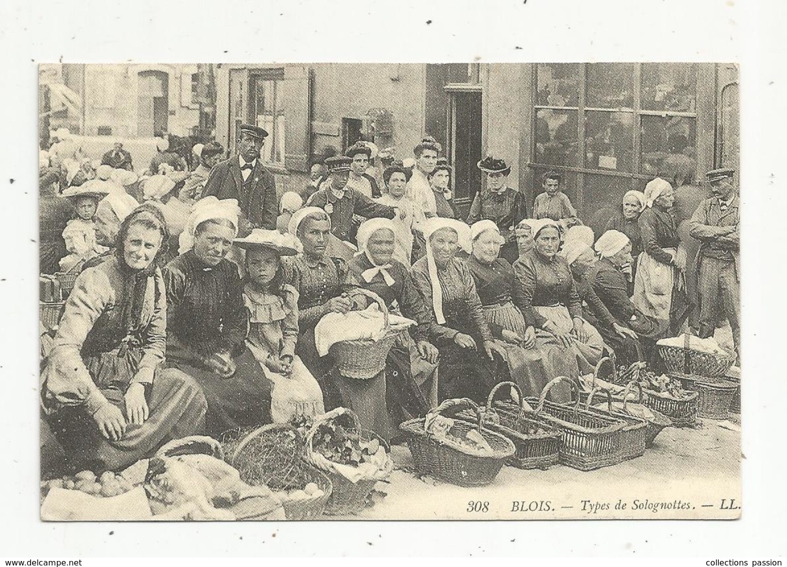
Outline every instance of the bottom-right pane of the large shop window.
<path fill-rule="evenodd" d="M 696 120 L 684 116 L 641 116 L 642 164 L 646 175 L 659 175 L 667 156 L 696 163 Z M 686 162 L 688 163 L 688 162 Z M 670 166 L 674 167 L 674 166 Z"/>

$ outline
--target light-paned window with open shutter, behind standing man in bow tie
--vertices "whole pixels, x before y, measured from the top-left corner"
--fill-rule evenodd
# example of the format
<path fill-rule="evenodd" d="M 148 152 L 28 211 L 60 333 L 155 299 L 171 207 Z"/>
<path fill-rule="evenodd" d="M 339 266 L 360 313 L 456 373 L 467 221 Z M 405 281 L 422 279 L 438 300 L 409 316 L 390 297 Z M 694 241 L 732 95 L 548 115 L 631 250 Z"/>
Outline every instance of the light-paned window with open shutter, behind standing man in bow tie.
<path fill-rule="evenodd" d="M 249 115 L 254 124 L 268 132 L 262 146 L 262 159 L 282 165 L 285 155 L 283 79 L 283 69 L 266 69 L 249 77 L 252 93 Z"/>

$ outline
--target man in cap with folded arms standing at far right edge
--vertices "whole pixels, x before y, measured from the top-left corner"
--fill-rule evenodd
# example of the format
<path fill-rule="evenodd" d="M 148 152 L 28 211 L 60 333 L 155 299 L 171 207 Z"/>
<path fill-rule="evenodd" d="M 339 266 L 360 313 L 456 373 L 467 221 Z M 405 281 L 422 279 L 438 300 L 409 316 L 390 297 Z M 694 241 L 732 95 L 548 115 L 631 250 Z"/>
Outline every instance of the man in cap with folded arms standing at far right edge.
<path fill-rule="evenodd" d="M 689 234 L 701 242 L 697 255 L 701 338 L 711 337 L 716 323 L 726 317 L 741 358 L 740 200 L 735 170 L 715 169 L 705 175 L 711 197 L 697 207 Z"/>

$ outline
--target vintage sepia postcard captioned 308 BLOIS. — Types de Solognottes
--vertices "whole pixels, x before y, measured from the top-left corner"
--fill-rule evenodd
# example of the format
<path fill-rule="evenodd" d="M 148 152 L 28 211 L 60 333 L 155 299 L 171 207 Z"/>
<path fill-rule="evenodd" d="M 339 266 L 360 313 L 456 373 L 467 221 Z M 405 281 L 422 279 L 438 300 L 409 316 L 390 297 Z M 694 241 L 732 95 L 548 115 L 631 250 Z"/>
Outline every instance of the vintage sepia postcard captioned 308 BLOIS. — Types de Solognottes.
<path fill-rule="evenodd" d="M 737 519 L 738 72 L 41 64 L 42 520 Z"/>

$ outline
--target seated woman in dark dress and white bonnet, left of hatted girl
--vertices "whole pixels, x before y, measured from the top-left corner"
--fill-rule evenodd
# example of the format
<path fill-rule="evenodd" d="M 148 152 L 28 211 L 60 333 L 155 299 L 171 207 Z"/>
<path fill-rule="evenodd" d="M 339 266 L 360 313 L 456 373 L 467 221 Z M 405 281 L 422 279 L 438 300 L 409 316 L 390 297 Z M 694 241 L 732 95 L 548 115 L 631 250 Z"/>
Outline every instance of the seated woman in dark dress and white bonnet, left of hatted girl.
<path fill-rule="evenodd" d="M 238 213 L 232 199 L 197 201 L 180 235 L 185 252 L 164 268 L 167 363 L 202 387 L 212 436 L 271 421 L 271 383 L 244 343 L 243 283 L 225 258 L 238 234 Z"/>

